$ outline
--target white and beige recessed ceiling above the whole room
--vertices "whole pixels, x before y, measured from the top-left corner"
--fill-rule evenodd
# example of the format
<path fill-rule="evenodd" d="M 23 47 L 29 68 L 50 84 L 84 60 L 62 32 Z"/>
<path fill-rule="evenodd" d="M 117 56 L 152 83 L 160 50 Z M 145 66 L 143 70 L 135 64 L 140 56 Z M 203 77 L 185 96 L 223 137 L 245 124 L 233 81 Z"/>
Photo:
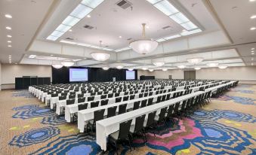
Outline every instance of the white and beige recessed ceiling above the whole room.
<path fill-rule="evenodd" d="M 256 60 L 251 59 L 254 56 L 251 54 L 251 50 L 256 48 L 256 30 L 250 30 L 251 26 L 255 26 L 255 19 L 251 20 L 250 17 L 254 14 L 253 8 L 256 7 L 256 2 L 247 0 L 168 0 L 177 6 L 179 11 L 186 14 L 199 29 L 202 29 L 202 32 L 159 42 L 156 51 L 147 55 L 140 55 L 131 49 L 119 51 L 120 48 L 128 47 L 130 41 L 140 38 L 141 23 L 147 23 L 146 35 L 155 40 L 180 34 L 184 28 L 146 0 L 128 0 L 132 5 L 126 9 L 116 5 L 119 0 L 105 0 L 91 11 L 91 17 L 85 17 L 73 26 L 72 32 L 64 33 L 56 41 L 48 41 L 46 39 L 48 35 L 51 35 L 51 32 L 80 2 L 81 0 L 35 0 L 15 3 L 9 0 L 2 1 L 0 21 L 3 24 L 0 29 L 3 30 L 4 35 L 0 37 L 0 61 L 8 63 L 8 55 L 11 55 L 13 63 L 51 65 L 53 62 L 51 59 L 38 61 L 29 59 L 27 56 L 53 55 L 81 59 L 76 62 L 76 65 L 79 66 L 109 65 L 115 67 L 122 64 L 124 67 L 141 68 L 147 64 L 148 68 L 156 68 L 152 62 L 164 58 L 165 67 L 177 68 L 174 65 L 187 63 L 185 59 L 177 59 L 177 57 L 204 57 L 205 53 L 221 51 L 222 54 L 217 58 L 207 57 L 204 62 L 240 59 L 242 62 L 233 62 L 230 63 L 230 66 L 231 64 L 237 66 L 256 64 Z M 13 18 L 6 19 L 5 14 L 11 14 Z M 9 39 L 6 37 L 9 33 L 5 26 L 9 25 L 13 28 L 10 31 L 12 47 L 8 47 Z M 93 29 L 85 29 L 85 25 L 93 26 Z M 165 26 L 171 28 L 162 29 Z M 128 40 L 129 38 L 131 39 Z M 60 41 L 69 41 L 74 44 Z M 99 41 L 103 41 L 104 50 L 94 48 L 99 46 Z M 30 42 L 32 44 L 29 44 Z M 84 47 L 81 44 L 91 44 L 91 47 Z M 236 56 L 230 55 L 227 52 L 229 50 L 236 51 Z M 96 51 L 110 53 L 110 59 L 106 62 L 95 61 L 91 58 L 90 53 Z M 175 58 L 177 62 L 172 60 Z M 252 62 L 254 63 L 252 64 Z"/>

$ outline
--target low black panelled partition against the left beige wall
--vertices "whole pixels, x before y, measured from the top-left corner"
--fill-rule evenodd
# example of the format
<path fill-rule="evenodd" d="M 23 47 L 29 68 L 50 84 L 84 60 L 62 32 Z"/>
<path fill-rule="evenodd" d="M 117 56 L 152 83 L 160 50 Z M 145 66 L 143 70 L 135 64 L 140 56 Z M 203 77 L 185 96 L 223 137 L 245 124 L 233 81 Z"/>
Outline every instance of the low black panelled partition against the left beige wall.
<path fill-rule="evenodd" d="M 15 78 L 15 90 L 28 89 L 32 85 L 51 84 L 50 77 L 39 78 L 36 76 L 23 76 L 22 78 Z"/>

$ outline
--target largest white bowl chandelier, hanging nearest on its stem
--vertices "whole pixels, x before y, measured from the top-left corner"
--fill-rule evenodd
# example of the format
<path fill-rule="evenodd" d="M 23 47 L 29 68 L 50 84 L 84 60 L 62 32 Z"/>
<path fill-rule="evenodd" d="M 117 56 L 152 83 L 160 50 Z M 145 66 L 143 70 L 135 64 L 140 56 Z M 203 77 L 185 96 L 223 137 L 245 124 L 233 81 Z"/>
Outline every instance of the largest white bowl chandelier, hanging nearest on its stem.
<path fill-rule="evenodd" d="M 132 50 L 140 54 L 151 53 L 153 52 L 153 50 L 156 49 L 159 43 L 156 41 L 151 41 L 150 39 L 147 39 L 145 35 L 146 23 L 143 23 L 142 26 L 143 26 L 142 38 L 137 41 L 132 41 L 130 43 L 130 47 L 132 48 Z"/>

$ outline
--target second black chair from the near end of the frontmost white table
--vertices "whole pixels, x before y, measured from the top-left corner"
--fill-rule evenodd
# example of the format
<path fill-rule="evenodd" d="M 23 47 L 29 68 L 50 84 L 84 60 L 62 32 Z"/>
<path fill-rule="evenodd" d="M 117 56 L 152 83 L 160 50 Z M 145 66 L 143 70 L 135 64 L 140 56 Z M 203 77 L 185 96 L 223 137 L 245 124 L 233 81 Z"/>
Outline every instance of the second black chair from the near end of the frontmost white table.
<path fill-rule="evenodd" d="M 136 117 L 135 125 L 131 125 L 131 127 L 130 127 L 131 138 L 133 139 L 135 134 L 136 135 L 140 134 L 143 137 L 144 143 L 146 143 L 146 141 L 147 141 L 147 137 L 146 137 L 146 134 L 143 129 L 144 128 L 143 123 L 144 123 L 145 117 L 146 117 L 146 114 L 143 114 L 140 117 Z"/>

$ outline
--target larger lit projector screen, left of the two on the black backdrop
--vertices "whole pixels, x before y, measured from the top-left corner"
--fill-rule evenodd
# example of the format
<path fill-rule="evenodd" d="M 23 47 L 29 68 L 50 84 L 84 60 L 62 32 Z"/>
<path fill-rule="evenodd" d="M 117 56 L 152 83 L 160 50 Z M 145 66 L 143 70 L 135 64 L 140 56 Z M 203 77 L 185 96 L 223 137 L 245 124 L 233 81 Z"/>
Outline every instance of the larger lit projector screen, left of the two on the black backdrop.
<path fill-rule="evenodd" d="M 88 81 L 88 69 L 69 68 L 69 82 Z"/>

